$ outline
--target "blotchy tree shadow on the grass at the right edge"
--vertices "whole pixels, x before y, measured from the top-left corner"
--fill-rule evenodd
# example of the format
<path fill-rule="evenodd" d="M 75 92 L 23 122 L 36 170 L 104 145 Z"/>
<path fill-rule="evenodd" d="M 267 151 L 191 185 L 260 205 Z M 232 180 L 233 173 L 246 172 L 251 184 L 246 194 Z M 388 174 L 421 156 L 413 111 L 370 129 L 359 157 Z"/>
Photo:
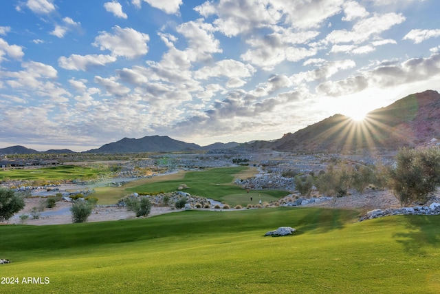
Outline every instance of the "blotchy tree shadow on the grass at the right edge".
<path fill-rule="evenodd" d="M 401 216 L 408 232 L 395 233 L 393 238 L 410 255 L 424 255 L 426 246 L 440 246 L 440 216 Z"/>

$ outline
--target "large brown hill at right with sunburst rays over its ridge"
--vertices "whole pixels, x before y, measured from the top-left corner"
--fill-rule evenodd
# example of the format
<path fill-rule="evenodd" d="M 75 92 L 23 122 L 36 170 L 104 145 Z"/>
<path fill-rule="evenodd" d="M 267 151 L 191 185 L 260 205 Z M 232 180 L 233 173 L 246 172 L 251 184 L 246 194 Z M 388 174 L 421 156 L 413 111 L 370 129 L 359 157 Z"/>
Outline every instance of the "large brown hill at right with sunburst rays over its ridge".
<path fill-rule="evenodd" d="M 440 94 L 428 90 L 375 109 L 361 123 L 336 114 L 273 142 L 256 141 L 252 147 L 309 152 L 396 150 L 426 145 L 432 138 L 440 138 Z"/>

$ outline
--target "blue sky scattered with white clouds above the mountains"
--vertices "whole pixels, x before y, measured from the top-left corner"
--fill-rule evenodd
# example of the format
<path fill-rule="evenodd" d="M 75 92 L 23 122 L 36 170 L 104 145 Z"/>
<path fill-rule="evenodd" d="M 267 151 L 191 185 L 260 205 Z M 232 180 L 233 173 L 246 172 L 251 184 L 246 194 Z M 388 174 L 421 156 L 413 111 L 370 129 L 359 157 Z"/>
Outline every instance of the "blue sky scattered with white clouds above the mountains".
<path fill-rule="evenodd" d="M 0 3 L 0 148 L 274 140 L 439 82 L 438 0 Z"/>

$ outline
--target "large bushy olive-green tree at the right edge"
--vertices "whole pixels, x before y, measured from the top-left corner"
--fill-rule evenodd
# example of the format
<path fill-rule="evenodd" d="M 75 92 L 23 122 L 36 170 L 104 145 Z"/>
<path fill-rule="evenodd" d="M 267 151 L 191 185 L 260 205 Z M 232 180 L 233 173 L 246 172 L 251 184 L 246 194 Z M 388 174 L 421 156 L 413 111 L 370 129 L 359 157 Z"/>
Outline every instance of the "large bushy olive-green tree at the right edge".
<path fill-rule="evenodd" d="M 390 171 L 390 187 L 402 206 L 425 202 L 440 184 L 440 149 L 399 150 Z"/>

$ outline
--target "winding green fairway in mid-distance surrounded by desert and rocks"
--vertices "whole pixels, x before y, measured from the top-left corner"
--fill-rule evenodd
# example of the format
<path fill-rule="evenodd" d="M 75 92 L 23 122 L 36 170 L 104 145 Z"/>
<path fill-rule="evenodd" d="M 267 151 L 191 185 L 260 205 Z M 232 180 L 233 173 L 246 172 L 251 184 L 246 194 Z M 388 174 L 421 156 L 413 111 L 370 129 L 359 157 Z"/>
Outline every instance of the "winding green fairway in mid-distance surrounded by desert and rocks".
<path fill-rule="evenodd" d="M 234 179 L 246 173 L 248 169 L 249 167 L 221 167 L 206 171 L 190 171 L 184 174 L 184 178 L 181 179 L 151 182 L 145 185 L 129 187 L 126 191 L 171 192 L 176 191 L 179 185 L 185 184 L 188 186 L 188 189 L 184 189 L 184 191 L 191 195 L 211 198 L 232 206 L 251 203 L 251 196 L 253 198 L 252 204 L 257 204 L 260 198 L 263 202 L 270 202 L 289 194 L 288 191 L 276 190 L 250 191 L 248 194 L 245 189 L 233 183 Z"/>

